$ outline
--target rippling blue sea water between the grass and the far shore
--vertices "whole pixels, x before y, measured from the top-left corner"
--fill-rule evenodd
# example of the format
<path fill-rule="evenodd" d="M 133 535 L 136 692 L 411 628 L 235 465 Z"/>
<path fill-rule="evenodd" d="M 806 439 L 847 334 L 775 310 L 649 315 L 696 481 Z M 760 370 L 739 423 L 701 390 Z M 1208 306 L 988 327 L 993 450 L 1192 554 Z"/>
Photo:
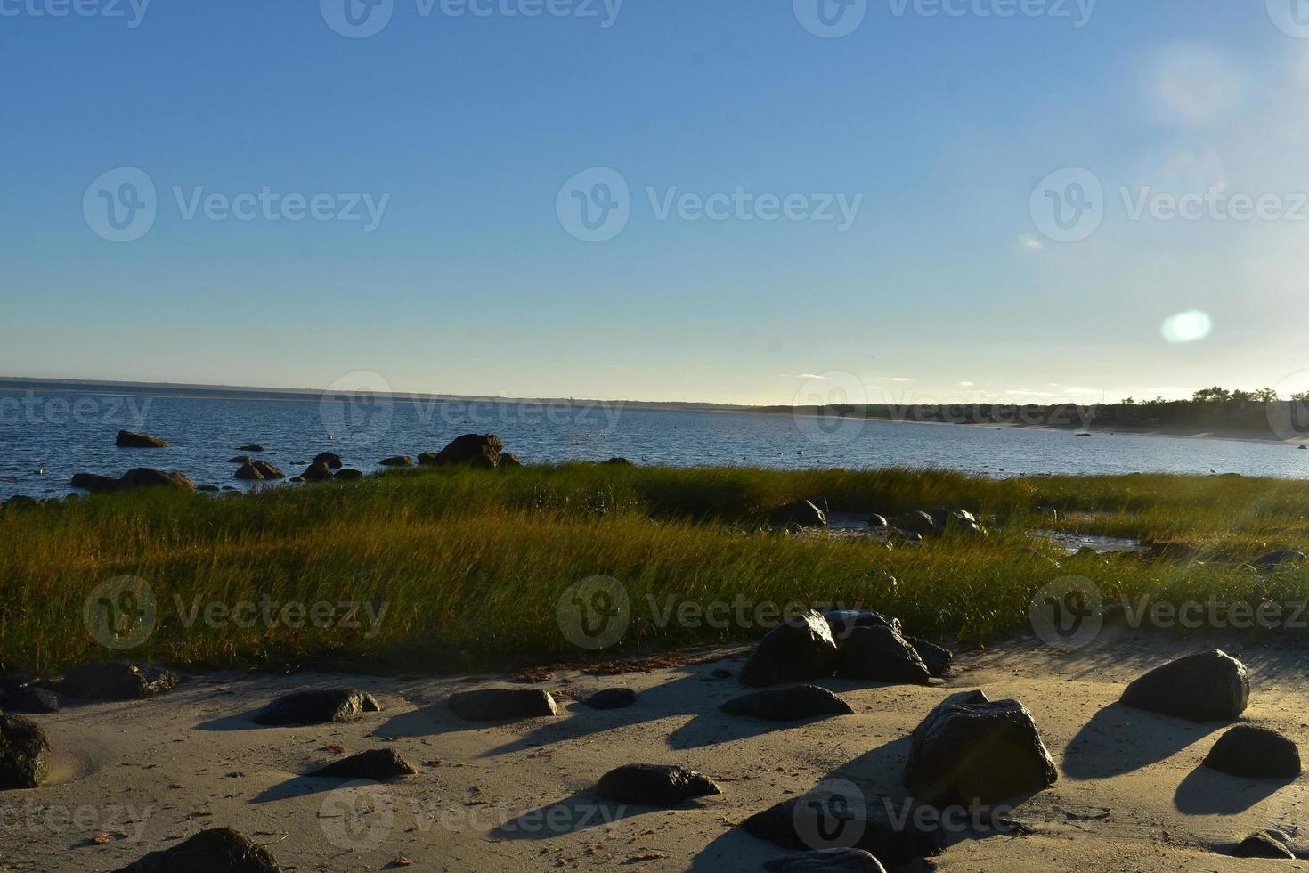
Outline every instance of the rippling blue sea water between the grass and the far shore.
<path fill-rule="evenodd" d="M 118 431 L 166 449 L 118 449 Z M 603 461 L 763 467 L 937 467 L 995 476 L 1238 472 L 1309 478 L 1295 445 L 1097 432 L 959 427 L 618 403 L 507 403 L 390 397 L 188 397 L 103 390 L 0 391 L 0 499 L 72 491 L 75 472 L 181 470 L 198 484 L 249 487 L 229 458 L 258 442 L 288 476 L 319 452 L 370 471 L 381 459 L 439 452 L 461 433 L 497 433 L 525 463 Z"/>

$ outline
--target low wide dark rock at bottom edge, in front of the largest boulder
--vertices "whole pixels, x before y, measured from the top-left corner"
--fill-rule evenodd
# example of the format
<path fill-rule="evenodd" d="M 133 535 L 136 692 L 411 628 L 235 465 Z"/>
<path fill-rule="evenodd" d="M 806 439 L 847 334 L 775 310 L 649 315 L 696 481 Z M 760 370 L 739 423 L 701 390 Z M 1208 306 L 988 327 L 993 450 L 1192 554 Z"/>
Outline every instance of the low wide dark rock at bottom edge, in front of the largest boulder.
<path fill-rule="evenodd" d="M 869 802 L 853 788 L 825 783 L 755 813 L 741 827 L 781 848 L 844 846 L 870 852 L 891 865 L 940 852 L 945 838 L 939 818 L 895 809 L 886 798 Z"/>

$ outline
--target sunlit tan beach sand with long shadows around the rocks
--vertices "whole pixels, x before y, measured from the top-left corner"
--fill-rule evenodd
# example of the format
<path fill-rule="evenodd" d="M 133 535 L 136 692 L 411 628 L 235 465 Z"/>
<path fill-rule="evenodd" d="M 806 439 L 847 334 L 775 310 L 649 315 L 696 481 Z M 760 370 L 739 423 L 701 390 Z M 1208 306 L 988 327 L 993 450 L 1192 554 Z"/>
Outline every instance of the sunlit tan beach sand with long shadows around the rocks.
<path fill-rule="evenodd" d="M 560 717 L 492 726 L 458 720 L 445 698 L 521 683 L 190 675 L 153 700 L 37 716 L 56 749 L 56 774 L 39 789 L 0 794 L 0 870 L 114 870 L 216 826 L 254 835 L 295 870 L 403 869 L 404 859 L 415 870 L 758 870 L 788 852 L 734 823 L 834 777 L 869 794 L 903 796 L 908 732 L 952 690 L 973 687 L 1028 705 L 1059 781 L 1014 810 L 1021 832 L 956 832 L 922 869 L 1309 869 L 1220 853 L 1263 827 L 1295 835 L 1309 804 L 1304 779 L 1278 784 L 1198 770 L 1223 725 L 1114 703 L 1144 670 L 1215 643 L 1134 632 L 1060 653 L 1016 641 L 959 657 L 940 686 L 823 682 L 857 715 L 798 726 L 716 711 L 745 691 L 711 675 L 738 668 L 740 649 L 649 673 L 555 673 L 530 687 L 551 691 Z M 1309 741 L 1309 653 L 1223 648 L 1250 668 L 1245 720 Z M 287 690 L 342 685 L 372 691 L 385 711 L 314 728 L 258 728 L 247 719 Z M 637 703 L 610 712 L 577 703 L 614 686 L 637 690 Z M 419 775 L 346 788 L 297 776 L 339 758 L 332 746 L 346 754 L 393 747 Z M 679 763 L 719 780 L 724 794 L 677 810 L 597 802 L 589 794 L 596 780 L 626 763 Z"/>

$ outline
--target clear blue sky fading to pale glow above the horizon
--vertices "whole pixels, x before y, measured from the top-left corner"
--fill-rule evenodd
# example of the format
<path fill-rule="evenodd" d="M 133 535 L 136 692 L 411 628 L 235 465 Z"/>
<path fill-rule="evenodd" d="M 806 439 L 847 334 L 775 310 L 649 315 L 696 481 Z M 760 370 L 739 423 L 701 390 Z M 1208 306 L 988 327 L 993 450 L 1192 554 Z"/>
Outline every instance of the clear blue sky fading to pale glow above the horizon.
<path fill-rule="evenodd" d="M 1299 3 L 0 0 L 0 374 L 1288 394 Z"/>

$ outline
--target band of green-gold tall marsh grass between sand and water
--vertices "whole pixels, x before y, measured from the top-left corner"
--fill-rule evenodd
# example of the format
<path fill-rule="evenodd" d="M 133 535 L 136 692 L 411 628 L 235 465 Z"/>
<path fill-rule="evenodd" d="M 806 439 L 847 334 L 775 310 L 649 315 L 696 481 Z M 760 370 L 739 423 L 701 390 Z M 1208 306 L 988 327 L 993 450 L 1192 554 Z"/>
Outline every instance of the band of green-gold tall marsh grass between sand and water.
<path fill-rule="evenodd" d="M 963 507 L 991 535 L 893 548 L 762 527 L 778 507 L 814 496 L 888 516 Z M 1042 507 L 1060 520 L 1037 514 Z M 1090 577 L 1109 597 L 1309 597 L 1309 568 L 1261 577 L 1237 567 L 1272 548 L 1309 551 L 1306 510 L 1309 483 L 1282 480 L 596 465 L 408 470 L 229 497 L 102 495 L 0 513 L 0 670 L 119 654 L 399 670 L 590 657 L 565 639 L 555 607 L 593 576 L 619 580 L 631 603 L 626 635 L 603 654 L 751 640 L 766 630 L 754 609 L 768 602 L 857 603 L 916 633 L 978 644 L 1024 627 L 1033 592 L 1063 575 Z M 1207 561 L 1067 556 L 1034 527 L 1179 542 Z M 126 652 L 84 623 L 89 593 L 118 576 L 145 580 L 157 606 L 153 633 Z M 264 597 L 332 603 L 332 626 L 203 618 L 208 603 Z M 691 626 L 677 618 L 682 602 L 733 606 L 732 619 Z M 339 626 L 343 603 L 357 627 Z"/>

